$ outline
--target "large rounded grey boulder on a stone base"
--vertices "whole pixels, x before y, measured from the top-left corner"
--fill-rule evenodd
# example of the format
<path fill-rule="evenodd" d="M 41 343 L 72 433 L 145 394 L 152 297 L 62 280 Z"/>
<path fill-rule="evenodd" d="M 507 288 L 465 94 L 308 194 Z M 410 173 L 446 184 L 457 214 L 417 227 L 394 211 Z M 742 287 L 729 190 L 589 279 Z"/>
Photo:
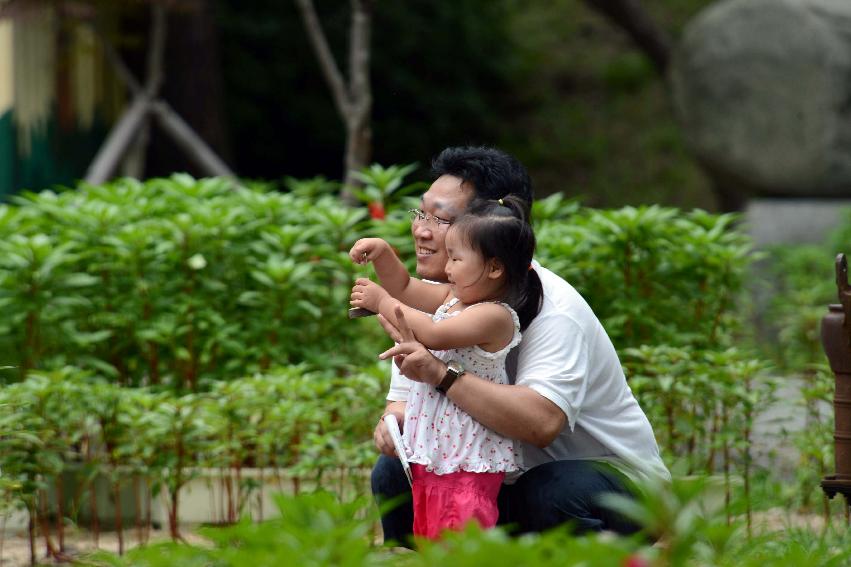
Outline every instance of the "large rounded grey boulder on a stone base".
<path fill-rule="evenodd" d="M 762 195 L 851 196 L 851 0 L 724 0 L 671 65 L 693 151 Z"/>

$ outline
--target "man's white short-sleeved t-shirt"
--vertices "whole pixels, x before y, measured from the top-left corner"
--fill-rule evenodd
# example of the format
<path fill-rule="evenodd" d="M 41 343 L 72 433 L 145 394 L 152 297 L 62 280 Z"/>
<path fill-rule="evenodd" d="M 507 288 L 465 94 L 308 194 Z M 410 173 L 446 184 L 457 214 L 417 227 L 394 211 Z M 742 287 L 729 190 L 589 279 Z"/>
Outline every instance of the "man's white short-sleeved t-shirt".
<path fill-rule="evenodd" d="M 567 426 L 547 447 L 522 443 L 523 470 L 550 461 L 607 461 L 633 479 L 670 479 L 647 416 L 624 377 L 612 341 L 581 295 L 534 262 L 544 300 L 509 355 L 509 380 L 557 405 Z M 406 401 L 410 380 L 393 365 L 388 401 Z"/>

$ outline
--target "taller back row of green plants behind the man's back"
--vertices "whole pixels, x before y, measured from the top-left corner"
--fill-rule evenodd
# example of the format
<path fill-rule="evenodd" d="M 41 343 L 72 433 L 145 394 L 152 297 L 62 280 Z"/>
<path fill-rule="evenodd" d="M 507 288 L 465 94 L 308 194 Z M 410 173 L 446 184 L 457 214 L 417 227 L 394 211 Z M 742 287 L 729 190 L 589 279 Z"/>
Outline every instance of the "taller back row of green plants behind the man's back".
<path fill-rule="evenodd" d="M 752 261 L 734 215 L 577 209 L 560 196 L 535 213 L 536 256 L 582 293 L 618 349 L 729 346 Z"/>

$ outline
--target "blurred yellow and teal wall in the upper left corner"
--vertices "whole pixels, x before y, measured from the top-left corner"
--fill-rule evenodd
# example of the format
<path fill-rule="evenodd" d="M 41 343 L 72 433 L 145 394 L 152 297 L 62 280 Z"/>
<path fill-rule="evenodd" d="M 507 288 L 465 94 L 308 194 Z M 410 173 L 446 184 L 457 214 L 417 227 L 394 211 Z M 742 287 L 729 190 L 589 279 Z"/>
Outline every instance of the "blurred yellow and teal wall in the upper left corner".
<path fill-rule="evenodd" d="M 0 201 L 85 175 L 123 106 L 111 71 L 89 25 L 48 3 L 0 20 Z"/>

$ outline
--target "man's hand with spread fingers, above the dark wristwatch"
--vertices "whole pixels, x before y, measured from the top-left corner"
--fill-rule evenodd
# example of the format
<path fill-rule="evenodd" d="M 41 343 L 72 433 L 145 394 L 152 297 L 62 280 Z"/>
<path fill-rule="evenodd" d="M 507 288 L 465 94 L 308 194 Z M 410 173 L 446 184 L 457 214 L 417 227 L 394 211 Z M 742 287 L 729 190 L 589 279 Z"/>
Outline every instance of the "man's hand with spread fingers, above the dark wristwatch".
<path fill-rule="evenodd" d="M 387 360 L 393 357 L 399 371 L 415 382 L 424 382 L 432 386 L 440 384 L 440 381 L 446 375 L 446 364 L 417 341 L 414 332 L 408 327 L 405 314 L 399 305 L 396 305 L 394 315 L 396 315 L 396 325 L 382 315 L 378 315 L 381 326 L 384 327 L 390 338 L 398 343 L 393 348 L 379 354 L 378 358 Z"/>

